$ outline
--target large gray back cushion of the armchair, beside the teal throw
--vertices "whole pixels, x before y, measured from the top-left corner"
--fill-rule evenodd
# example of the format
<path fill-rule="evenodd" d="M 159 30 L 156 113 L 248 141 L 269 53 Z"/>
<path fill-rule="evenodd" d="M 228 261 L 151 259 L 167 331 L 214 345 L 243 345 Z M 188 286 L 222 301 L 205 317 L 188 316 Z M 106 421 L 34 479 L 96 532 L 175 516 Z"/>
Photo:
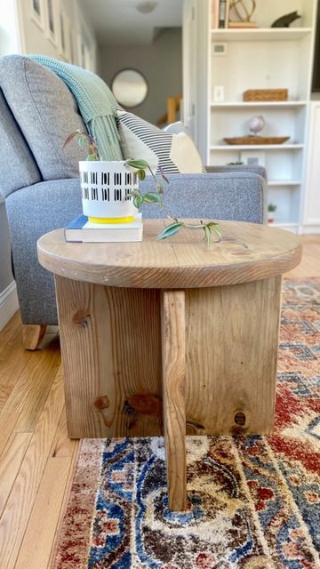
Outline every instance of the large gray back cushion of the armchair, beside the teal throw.
<path fill-rule="evenodd" d="M 85 130 L 76 100 L 51 71 L 20 55 L 0 59 L 0 86 L 44 180 L 76 178 L 84 150 L 63 150 L 70 132 Z"/>

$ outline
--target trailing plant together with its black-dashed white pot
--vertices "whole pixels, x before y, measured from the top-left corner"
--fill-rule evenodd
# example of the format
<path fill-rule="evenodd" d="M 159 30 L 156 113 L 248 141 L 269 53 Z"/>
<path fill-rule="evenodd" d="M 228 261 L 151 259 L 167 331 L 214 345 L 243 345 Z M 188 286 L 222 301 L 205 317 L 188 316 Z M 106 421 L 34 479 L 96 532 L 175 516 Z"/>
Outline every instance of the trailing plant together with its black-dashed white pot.
<path fill-rule="evenodd" d="M 170 237 L 182 228 L 200 228 L 204 231 L 208 247 L 212 242 L 212 232 L 220 241 L 221 229 L 217 221 L 200 220 L 199 223 L 187 223 L 168 212 L 163 195 L 164 183 L 169 181 L 163 172 L 156 176 L 146 160 L 100 160 L 96 141 L 81 131 L 72 132 L 65 140 L 63 148 L 74 139 L 81 148 L 84 148 L 85 144 L 89 148 L 87 159 L 79 162 L 79 170 L 84 215 L 93 223 L 129 223 L 137 215 L 142 204 L 158 204 L 171 223 L 157 239 Z M 155 181 L 155 190 L 143 193 L 139 188 L 139 180 L 145 179 L 146 171 Z"/>

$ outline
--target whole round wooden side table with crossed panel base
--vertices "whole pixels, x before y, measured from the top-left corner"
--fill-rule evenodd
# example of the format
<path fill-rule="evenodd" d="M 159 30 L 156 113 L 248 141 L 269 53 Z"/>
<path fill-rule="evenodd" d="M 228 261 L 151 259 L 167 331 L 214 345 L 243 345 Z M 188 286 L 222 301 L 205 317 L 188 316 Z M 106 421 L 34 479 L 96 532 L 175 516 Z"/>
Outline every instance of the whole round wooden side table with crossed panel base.
<path fill-rule="evenodd" d="M 69 437 L 164 434 L 169 507 L 186 505 L 185 435 L 270 433 L 282 274 L 298 236 L 221 221 L 142 243 L 66 243 L 42 236 L 55 275 Z"/>

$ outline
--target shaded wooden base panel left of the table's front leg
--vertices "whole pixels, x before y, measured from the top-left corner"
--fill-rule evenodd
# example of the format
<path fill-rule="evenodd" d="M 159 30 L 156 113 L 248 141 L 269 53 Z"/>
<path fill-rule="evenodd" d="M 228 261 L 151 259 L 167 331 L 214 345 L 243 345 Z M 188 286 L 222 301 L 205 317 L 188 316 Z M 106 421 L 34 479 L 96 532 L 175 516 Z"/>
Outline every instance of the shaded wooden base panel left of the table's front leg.
<path fill-rule="evenodd" d="M 162 434 L 160 292 L 55 278 L 69 437 Z"/>

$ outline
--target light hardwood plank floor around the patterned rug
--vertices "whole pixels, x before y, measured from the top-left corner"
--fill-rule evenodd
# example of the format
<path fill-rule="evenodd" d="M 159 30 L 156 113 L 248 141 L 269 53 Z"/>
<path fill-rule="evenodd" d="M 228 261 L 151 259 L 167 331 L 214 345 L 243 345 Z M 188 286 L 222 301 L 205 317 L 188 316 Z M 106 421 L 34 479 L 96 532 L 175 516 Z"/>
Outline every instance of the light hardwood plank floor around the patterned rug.
<path fill-rule="evenodd" d="M 290 278 L 320 277 L 320 236 L 305 236 Z M 68 499 L 78 441 L 69 440 L 59 339 L 22 349 L 17 313 L 0 333 L 0 568 L 46 569 Z"/>

